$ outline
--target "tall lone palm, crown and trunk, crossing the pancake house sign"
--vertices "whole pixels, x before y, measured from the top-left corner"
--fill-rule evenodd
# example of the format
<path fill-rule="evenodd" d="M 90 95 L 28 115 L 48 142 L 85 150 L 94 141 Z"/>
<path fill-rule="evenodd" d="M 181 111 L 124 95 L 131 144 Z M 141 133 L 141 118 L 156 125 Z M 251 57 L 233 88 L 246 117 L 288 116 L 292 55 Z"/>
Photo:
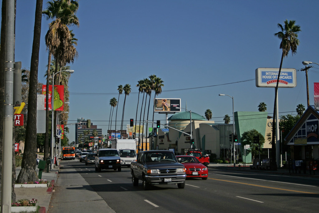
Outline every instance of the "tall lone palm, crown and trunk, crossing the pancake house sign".
<path fill-rule="evenodd" d="M 279 48 L 282 49 L 278 78 L 277 78 L 277 85 L 275 87 L 275 100 L 274 100 L 274 112 L 272 117 L 272 123 L 275 123 L 275 116 L 276 116 L 276 100 L 277 100 L 277 92 L 278 92 L 278 84 L 279 84 L 279 77 L 282 67 L 282 61 L 284 57 L 288 56 L 288 53 L 291 51 L 292 55 L 296 54 L 297 46 L 299 45 L 298 33 L 301 31 L 299 25 L 295 25 L 296 21 L 288 20 L 284 21 L 284 27 L 281 24 L 277 24 L 278 28 L 281 30 L 274 35 L 278 37 L 281 42 Z M 275 125 L 273 125 L 274 127 Z M 276 163 L 276 144 L 275 144 L 275 133 L 276 128 L 272 128 L 272 140 L 271 140 L 271 158 L 272 158 L 272 169 L 277 170 L 277 163 Z"/>

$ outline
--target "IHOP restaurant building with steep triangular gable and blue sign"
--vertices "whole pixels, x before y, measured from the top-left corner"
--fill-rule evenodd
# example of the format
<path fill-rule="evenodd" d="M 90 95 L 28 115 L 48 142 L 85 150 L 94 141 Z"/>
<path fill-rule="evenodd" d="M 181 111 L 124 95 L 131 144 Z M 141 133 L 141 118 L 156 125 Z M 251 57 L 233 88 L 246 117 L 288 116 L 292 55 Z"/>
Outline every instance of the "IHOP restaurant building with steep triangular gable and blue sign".
<path fill-rule="evenodd" d="M 285 137 L 285 144 L 291 148 L 292 160 L 319 159 L 318 129 L 319 113 L 309 106 Z"/>

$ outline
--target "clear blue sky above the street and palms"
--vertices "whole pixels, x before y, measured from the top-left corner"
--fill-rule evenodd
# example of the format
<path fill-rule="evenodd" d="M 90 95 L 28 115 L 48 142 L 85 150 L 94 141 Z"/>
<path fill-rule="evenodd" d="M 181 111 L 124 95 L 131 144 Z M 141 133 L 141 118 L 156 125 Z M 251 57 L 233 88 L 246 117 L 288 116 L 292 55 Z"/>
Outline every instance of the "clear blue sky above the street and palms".
<path fill-rule="evenodd" d="M 280 41 L 274 33 L 286 19 L 296 20 L 301 32 L 297 54 L 290 53 L 283 67 L 300 70 L 305 67 L 302 61 L 319 63 L 318 8 L 318 1 L 307 0 L 80 0 L 80 26 L 70 27 L 78 39 L 78 58 L 70 65 L 75 72 L 69 80 L 69 123 L 91 119 L 106 134 L 109 100 L 117 99 L 118 85 L 130 84 L 124 115 L 124 124 L 129 124 L 136 113 L 137 81 L 152 74 L 164 81 L 159 97 L 181 98 L 183 108 L 187 103 L 188 110 L 203 116 L 210 109 L 217 123 L 223 123 L 226 114 L 232 116 L 231 98 L 219 93 L 234 96 L 235 111 L 257 111 L 264 102 L 272 115 L 274 88 L 256 87 L 255 69 L 279 67 Z M 34 11 L 35 1 L 17 0 L 15 61 L 22 61 L 25 68 L 30 67 Z M 44 37 L 50 22 L 42 19 L 38 72 L 42 83 L 48 63 Z M 319 81 L 319 66 L 313 66 L 308 71 L 310 105 L 313 83 Z M 238 81 L 245 82 L 233 83 Z M 188 89 L 194 87 L 202 88 Z M 296 114 L 300 103 L 307 106 L 305 72 L 297 72 L 295 88 L 279 88 L 278 98 L 279 115 Z M 118 119 L 123 100 L 124 94 Z M 165 115 L 155 114 L 156 119 L 164 120 Z M 68 137 L 74 140 L 74 126 Z"/>

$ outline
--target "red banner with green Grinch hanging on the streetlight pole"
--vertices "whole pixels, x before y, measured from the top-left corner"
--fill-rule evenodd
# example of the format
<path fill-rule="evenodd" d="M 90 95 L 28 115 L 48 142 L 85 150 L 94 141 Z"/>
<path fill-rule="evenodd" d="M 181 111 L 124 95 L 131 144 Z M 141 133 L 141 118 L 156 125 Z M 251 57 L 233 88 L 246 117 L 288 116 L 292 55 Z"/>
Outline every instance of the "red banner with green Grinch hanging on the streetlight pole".
<path fill-rule="evenodd" d="M 46 110 L 46 93 L 47 93 L 47 85 L 42 85 L 42 95 L 44 97 L 44 110 Z M 49 85 L 49 110 L 52 109 L 52 85 Z M 64 103 L 64 86 L 63 85 L 54 85 L 54 110 L 63 111 L 63 103 Z"/>

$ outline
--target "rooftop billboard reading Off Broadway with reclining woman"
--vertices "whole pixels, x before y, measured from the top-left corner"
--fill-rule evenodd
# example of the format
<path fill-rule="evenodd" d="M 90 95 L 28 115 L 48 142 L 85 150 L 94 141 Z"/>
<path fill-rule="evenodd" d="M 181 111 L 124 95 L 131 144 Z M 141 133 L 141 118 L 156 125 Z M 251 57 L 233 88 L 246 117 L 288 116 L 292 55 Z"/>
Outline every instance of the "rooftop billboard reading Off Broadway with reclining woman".
<path fill-rule="evenodd" d="M 177 109 L 177 107 L 179 109 Z M 180 98 L 155 98 L 154 112 L 180 112 L 181 111 Z"/>

